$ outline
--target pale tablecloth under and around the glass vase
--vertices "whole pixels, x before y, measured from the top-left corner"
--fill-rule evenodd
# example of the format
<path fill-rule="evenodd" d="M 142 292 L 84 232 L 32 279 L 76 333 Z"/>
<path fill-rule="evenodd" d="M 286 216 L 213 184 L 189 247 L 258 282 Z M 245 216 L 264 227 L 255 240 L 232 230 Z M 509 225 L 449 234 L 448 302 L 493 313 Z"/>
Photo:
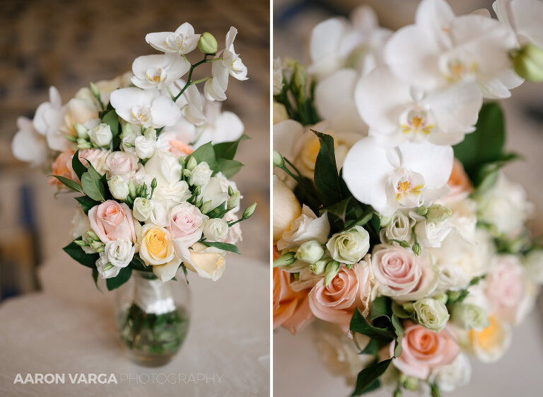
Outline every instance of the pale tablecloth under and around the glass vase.
<path fill-rule="evenodd" d="M 187 340 L 173 362 L 156 368 L 123 355 L 113 294 L 98 292 L 90 269 L 59 253 L 41 267 L 40 280 L 43 292 L 0 305 L 1 397 L 269 395 L 267 265 L 228 255 L 218 282 L 190 273 Z M 13 384 L 17 374 L 64 374 L 65 383 Z M 69 374 L 87 381 L 88 374 L 114 374 L 118 384 L 72 384 Z"/>

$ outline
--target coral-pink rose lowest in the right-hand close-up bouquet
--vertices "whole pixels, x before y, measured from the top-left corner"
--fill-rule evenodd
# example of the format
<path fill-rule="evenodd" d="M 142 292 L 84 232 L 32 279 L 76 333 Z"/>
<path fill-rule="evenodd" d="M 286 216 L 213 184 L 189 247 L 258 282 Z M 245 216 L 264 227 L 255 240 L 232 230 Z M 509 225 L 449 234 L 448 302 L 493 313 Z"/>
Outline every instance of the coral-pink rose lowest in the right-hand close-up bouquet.
<path fill-rule="evenodd" d="M 432 369 L 450 364 L 460 352 L 448 328 L 435 333 L 407 321 L 404 330 L 402 355 L 394 359 L 392 364 L 407 376 L 426 379 Z M 390 355 L 393 354 L 394 342 L 390 344 Z"/>

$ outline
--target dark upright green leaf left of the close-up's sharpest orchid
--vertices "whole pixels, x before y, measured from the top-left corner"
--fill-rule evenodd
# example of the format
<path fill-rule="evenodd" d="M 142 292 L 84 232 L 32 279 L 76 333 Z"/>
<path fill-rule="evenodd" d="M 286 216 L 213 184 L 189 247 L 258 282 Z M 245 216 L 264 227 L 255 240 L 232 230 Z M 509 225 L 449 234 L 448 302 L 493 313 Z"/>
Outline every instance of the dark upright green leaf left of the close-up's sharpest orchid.
<path fill-rule="evenodd" d="M 320 141 L 319 154 L 315 161 L 315 185 L 322 194 L 325 205 L 341 201 L 341 178 L 337 173 L 336 155 L 334 151 L 334 138 L 311 130 L 317 135 Z"/>

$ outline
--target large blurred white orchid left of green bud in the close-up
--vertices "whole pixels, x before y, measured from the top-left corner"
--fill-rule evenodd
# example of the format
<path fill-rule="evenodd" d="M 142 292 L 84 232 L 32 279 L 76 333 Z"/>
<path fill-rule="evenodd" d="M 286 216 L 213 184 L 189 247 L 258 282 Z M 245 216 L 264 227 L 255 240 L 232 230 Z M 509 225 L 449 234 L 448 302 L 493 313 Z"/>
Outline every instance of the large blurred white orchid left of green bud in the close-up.
<path fill-rule="evenodd" d="M 508 57 L 515 47 L 508 25 L 477 13 L 456 17 L 445 0 L 423 0 L 416 23 L 387 42 L 385 61 L 399 80 L 424 91 L 468 81 L 485 97 L 506 98 L 522 83 Z"/>

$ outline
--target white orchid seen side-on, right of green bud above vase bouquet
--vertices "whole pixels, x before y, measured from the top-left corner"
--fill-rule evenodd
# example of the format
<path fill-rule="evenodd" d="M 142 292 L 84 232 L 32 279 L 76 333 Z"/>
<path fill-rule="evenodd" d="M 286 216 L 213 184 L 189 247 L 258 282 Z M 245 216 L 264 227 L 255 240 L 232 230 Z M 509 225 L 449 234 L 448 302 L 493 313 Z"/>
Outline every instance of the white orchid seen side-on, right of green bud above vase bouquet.
<path fill-rule="evenodd" d="M 234 79 L 247 80 L 247 67 L 243 64 L 239 54 L 234 50 L 234 39 L 238 34 L 238 29 L 230 27 L 226 34 L 226 46 L 221 52 L 218 52 L 211 67 L 211 79 L 204 85 L 204 94 L 208 100 L 225 100 L 224 94 L 228 88 L 228 75 Z"/>

